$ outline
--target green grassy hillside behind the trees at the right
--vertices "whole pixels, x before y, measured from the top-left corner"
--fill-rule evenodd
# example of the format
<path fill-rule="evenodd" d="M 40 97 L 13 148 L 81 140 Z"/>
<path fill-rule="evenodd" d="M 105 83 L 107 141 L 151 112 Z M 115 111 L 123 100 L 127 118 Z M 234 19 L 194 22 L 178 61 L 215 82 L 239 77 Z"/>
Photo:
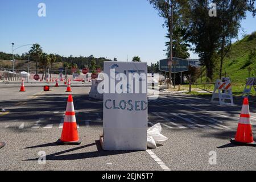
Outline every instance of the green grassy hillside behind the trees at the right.
<path fill-rule="evenodd" d="M 219 65 L 217 61 L 214 69 L 214 80 L 218 78 Z M 250 77 L 256 77 L 256 32 L 232 44 L 224 59 L 223 76 L 226 72 L 226 77 L 231 78 L 232 90 L 237 96 L 241 96 L 245 88 L 246 78 L 249 77 L 248 68 L 251 68 Z M 207 82 L 207 79 L 203 77 L 202 81 Z M 197 82 L 200 83 L 200 78 L 197 79 Z M 209 91 L 214 89 L 213 85 L 207 85 L 206 88 L 205 85 L 198 85 L 197 87 Z M 256 96 L 254 90 L 251 94 Z"/>

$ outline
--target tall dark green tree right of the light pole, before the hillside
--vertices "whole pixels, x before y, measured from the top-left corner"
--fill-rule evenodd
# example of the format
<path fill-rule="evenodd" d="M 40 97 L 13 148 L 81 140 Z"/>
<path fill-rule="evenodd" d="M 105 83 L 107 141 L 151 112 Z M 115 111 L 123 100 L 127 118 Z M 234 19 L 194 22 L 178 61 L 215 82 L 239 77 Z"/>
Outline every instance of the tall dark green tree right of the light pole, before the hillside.
<path fill-rule="evenodd" d="M 213 71 L 220 53 L 220 76 L 227 46 L 240 27 L 246 11 L 255 14 L 255 0 L 214 1 L 217 16 L 209 16 L 209 2 L 206 0 L 189 1 L 190 23 L 187 31 L 189 42 L 195 45 L 202 65 L 205 65 L 207 77 L 213 80 Z M 200 18 L 199 18 L 200 17 Z"/>

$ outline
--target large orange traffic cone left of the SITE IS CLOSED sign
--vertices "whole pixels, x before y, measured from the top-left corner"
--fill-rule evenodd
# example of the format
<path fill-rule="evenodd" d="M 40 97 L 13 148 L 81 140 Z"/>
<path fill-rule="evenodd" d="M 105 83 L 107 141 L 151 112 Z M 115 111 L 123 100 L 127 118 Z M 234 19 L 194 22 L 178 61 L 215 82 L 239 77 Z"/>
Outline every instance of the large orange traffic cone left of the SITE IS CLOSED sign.
<path fill-rule="evenodd" d="M 61 138 L 57 140 L 57 144 L 80 144 L 79 135 L 76 125 L 76 114 L 73 104 L 72 95 L 68 96 L 68 104 L 63 123 Z"/>

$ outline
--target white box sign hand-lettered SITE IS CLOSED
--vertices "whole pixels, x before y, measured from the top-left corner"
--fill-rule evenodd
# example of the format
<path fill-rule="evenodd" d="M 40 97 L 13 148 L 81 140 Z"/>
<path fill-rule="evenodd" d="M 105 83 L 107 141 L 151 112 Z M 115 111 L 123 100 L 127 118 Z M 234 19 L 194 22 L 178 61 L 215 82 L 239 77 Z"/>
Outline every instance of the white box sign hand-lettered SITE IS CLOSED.
<path fill-rule="evenodd" d="M 113 72 L 111 73 L 110 69 L 115 69 L 115 77 L 118 73 L 125 73 L 127 82 L 119 85 L 120 80 L 112 78 Z M 134 92 L 135 89 L 138 89 L 138 85 L 141 88 L 147 88 L 147 63 L 105 61 L 104 73 L 108 75 L 109 80 L 106 83 L 108 86 L 104 86 L 104 88 L 109 88 L 108 93 L 104 93 L 103 102 L 104 150 L 147 150 L 147 89 L 145 93 L 140 89 L 139 92 Z M 144 80 L 139 77 L 129 80 L 129 73 L 134 75 L 135 73 L 144 73 L 146 76 Z M 110 78 L 114 80 L 114 84 Z M 106 77 L 104 77 L 104 81 L 106 81 Z M 113 86 L 115 88 L 127 87 L 133 91 L 113 93 L 110 91 Z"/>

